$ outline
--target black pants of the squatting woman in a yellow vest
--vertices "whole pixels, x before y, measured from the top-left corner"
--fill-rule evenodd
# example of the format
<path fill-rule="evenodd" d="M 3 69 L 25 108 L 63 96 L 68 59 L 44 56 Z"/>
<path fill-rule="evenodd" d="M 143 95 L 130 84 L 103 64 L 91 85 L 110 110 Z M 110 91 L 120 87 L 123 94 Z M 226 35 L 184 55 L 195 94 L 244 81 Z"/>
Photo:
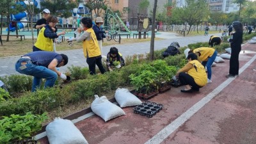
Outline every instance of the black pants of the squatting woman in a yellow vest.
<path fill-rule="evenodd" d="M 194 80 L 193 77 L 191 77 L 189 74 L 186 74 L 186 72 L 180 72 L 179 74 L 179 80 L 182 85 L 190 85 L 193 90 L 199 90 L 201 86 L 198 86 Z"/>

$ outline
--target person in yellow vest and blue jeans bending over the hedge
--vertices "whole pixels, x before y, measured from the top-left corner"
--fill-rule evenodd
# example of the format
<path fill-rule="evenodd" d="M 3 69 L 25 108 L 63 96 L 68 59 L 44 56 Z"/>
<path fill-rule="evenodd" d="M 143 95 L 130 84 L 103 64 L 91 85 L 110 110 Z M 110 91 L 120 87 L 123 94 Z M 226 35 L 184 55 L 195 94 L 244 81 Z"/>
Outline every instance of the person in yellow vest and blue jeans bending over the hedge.
<path fill-rule="evenodd" d="M 200 47 L 197 49 L 193 49 L 188 51 L 188 54 L 191 52 L 195 53 L 197 56 L 197 60 L 207 68 L 207 83 L 212 83 L 212 63 L 216 59 L 218 52 L 211 47 Z M 186 54 L 187 55 L 187 54 Z"/>

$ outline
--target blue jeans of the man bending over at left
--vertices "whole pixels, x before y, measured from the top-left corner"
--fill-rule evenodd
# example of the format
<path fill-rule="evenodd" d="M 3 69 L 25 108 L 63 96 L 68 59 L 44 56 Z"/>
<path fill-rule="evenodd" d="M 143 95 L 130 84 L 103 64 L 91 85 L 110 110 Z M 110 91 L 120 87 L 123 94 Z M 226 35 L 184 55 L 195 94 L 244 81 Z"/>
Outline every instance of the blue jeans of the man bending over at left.
<path fill-rule="evenodd" d="M 36 88 L 40 87 L 42 78 L 46 79 L 44 88 L 54 86 L 54 83 L 58 78 L 56 72 L 46 67 L 35 65 L 28 58 L 20 58 L 15 65 L 15 69 L 20 74 L 34 76 L 32 92 L 35 92 Z"/>

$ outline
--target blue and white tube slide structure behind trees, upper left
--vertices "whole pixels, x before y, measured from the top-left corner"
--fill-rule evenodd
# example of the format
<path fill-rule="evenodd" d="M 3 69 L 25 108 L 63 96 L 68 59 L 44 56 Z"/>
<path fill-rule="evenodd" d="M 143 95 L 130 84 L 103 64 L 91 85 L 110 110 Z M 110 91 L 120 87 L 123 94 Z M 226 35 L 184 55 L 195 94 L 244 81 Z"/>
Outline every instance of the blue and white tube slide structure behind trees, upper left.
<path fill-rule="evenodd" d="M 28 4 L 34 4 L 34 3 L 35 3 L 35 6 L 37 6 L 38 3 L 37 3 L 36 0 L 30 1 L 30 2 L 29 1 L 17 2 L 17 4 L 20 4 L 21 6 L 23 6 L 23 8 L 26 8 L 26 6 Z M 17 24 L 18 29 L 25 28 L 28 25 L 27 15 L 28 15 L 28 13 L 26 13 L 26 12 L 20 12 L 20 13 L 17 13 L 15 15 L 12 14 L 11 15 L 11 20 L 20 21 L 20 22 L 11 22 L 10 26 L 9 26 L 10 31 L 15 31 L 16 30 L 15 24 Z M 6 31 L 9 31 L 9 28 L 6 28 Z"/>

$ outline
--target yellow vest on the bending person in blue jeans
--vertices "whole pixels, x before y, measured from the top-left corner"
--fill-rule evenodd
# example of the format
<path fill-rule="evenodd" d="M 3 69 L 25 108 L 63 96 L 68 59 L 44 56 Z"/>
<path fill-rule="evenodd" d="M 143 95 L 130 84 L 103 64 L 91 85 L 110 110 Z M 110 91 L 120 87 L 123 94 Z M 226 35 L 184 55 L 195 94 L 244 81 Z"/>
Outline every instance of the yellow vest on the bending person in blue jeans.
<path fill-rule="evenodd" d="M 214 54 L 214 51 L 215 49 L 212 49 L 211 47 L 200 47 L 193 50 L 194 53 L 200 53 L 200 56 L 197 58 L 198 61 L 207 61 L 208 58 Z"/>

